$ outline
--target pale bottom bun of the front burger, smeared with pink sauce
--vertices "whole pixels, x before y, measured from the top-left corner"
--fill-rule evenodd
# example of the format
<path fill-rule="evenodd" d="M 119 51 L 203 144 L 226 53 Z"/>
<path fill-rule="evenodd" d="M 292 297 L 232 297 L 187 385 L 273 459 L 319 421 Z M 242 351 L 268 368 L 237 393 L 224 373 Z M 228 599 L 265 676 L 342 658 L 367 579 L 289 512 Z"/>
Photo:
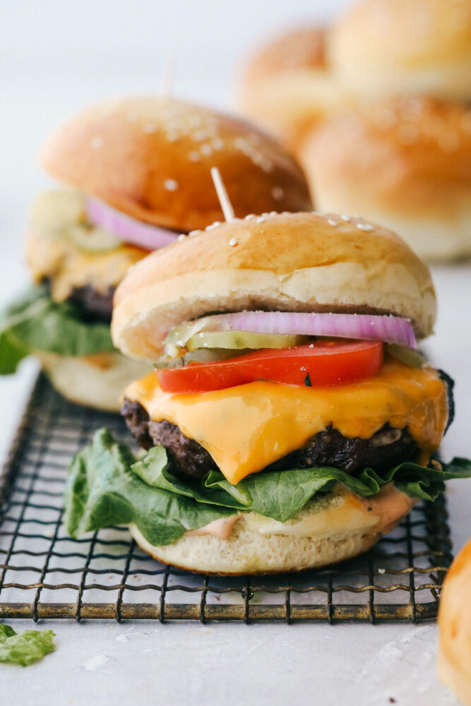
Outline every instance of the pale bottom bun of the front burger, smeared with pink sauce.
<path fill-rule="evenodd" d="M 141 549 L 179 568 L 224 575 L 284 573 L 362 554 L 393 530 L 414 503 L 392 484 L 374 498 L 359 498 L 338 486 L 287 522 L 244 513 L 228 539 L 191 533 L 174 544 L 153 546 L 136 525 L 129 525 L 129 531 Z"/>

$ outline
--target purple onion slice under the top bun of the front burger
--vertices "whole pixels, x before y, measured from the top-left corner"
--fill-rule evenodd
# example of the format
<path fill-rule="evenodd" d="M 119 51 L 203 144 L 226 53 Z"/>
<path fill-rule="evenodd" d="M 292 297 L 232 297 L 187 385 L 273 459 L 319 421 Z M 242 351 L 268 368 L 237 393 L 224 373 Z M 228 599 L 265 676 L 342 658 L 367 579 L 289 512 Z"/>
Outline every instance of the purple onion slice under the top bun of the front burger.
<path fill-rule="evenodd" d="M 241 330 L 251 333 L 287 333 L 332 336 L 417 347 L 407 318 L 369 316 L 361 313 L 298 313 L 291 311 L 242 311 L 206 317 L 200 330 Z"/>

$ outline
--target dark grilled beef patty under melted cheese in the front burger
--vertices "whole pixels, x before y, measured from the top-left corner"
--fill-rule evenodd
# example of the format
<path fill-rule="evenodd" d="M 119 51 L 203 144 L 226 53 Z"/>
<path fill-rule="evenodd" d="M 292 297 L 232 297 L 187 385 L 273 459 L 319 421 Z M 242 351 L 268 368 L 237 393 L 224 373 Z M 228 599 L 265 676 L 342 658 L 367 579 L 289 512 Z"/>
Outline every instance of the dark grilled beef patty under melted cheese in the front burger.
<path fill-rule="evenodd" d="M 167 450 L 172 472 L 181 477 L 201 479 L 217 469 L 203 446 L 181 433 L 169 421 L 151 421 L 140 402 L 125 399 L 121 409 L 126 424 L 138 443 L 146 449 L 162 444 Z M 385 424 L 369 439 L 348 438 L 337 429 L 327 429 L 313 436 L 302 448 L 292 451 L 266 467 L 270 471 L 311 466 L 334 466 L 354 474 L 366 467 L 381 470 L 417 458 L 417 443 L 407 429 Z"/>

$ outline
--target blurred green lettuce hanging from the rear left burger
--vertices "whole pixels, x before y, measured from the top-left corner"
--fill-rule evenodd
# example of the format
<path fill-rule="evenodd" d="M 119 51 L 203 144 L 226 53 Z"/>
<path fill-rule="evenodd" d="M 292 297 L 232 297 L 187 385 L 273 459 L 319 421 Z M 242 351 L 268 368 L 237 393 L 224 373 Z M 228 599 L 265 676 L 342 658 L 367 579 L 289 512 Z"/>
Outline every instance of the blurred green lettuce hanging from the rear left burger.
<path fill-rule="evenodd" d="M 86 321 L 69 301 L 52 301 L 45 285 L 30 287 L 0 314 L 2 375 L 35 350 L 80 357 L 113 349 L 107 323 Z"/>

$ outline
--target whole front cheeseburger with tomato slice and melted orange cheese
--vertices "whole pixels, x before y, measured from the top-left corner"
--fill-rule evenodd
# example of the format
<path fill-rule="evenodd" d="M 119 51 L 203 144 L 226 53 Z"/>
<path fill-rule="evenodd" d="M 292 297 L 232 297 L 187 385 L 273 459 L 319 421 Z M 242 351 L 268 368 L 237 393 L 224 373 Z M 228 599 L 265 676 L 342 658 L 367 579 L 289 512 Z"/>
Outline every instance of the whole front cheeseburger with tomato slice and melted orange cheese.
<path fill-rule="evenodd" d="M 160 561 L 208 573 L 323 566 L 368 549 L 419 498 L 471 476 L 431 460 L 451 381 L 417 352 L 429 270 L 393 232 L 314 213 L 234 220 L 157 251 L 119 285 L 124 354 L 156 369 L 66 489 L 76 537 L 129 525 Z"/>

